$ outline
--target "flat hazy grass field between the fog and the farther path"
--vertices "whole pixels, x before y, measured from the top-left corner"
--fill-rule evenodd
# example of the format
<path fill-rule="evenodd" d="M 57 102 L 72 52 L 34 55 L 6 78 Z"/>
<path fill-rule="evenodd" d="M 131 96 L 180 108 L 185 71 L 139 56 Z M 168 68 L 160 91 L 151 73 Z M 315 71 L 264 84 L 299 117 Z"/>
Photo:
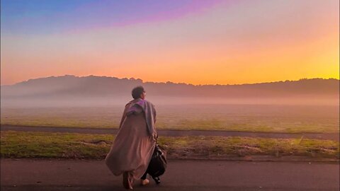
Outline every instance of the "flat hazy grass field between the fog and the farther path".
<path fill-rule="evenodd" d="M 156 105 L 158 129 L 339 132 L 339 105 Z M 124 105 L 1 108 L 1 125 L 118 128 Z"/>

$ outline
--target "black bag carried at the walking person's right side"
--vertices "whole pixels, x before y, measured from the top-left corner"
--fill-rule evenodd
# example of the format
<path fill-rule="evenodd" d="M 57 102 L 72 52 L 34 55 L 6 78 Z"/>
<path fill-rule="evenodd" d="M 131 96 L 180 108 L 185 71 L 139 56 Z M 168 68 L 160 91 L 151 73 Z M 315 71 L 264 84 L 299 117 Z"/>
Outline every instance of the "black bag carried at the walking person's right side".
<path fill-rule="evenodd" d="M 161 183 L 159 176 L 164 174 L 166 166 L 166 151 L 161 146 L 159 146 L 159 144 L 156 144 L 151 161 L 147 167 L 147 173 L 151 175 L 157 184 L 159 184 Z"/>

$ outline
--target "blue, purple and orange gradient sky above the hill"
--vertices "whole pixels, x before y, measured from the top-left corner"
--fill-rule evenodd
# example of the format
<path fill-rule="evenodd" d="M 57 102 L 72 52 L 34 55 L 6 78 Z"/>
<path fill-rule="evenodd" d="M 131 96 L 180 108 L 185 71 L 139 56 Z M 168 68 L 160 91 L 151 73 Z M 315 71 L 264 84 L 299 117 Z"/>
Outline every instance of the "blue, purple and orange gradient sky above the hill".
<path fill-rule="evenodd" d="M 339 0 L 1 0 L 1 85 L 339 79 Z"/>

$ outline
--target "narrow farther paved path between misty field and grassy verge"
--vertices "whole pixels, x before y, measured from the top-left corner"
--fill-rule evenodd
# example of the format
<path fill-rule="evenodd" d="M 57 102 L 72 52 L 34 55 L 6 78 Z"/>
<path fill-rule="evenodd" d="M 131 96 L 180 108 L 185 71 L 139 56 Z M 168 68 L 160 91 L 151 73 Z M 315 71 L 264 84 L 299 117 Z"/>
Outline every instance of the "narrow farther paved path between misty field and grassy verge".
<path fill-rule="evenodd" d="M 26 127 L 1 125 L 1 131 L 23 131 L 23 132 L 72 132 L 84 134 L 116 134 L 118 129 L 109 128 L 84 128 L 84 127 Z M 271 133 L 271 132 L 230 132 L 230 131 L 198 131 L 198 130 L 162 130 L 158 131 L 159 136 L 183 137 L 183 136 L 221 136 L 221 137 L 263 137 L 263 138 L 295 138 L 302 136 L 307 139 L 327 139 L 339 141 L 338 133 Z"/>

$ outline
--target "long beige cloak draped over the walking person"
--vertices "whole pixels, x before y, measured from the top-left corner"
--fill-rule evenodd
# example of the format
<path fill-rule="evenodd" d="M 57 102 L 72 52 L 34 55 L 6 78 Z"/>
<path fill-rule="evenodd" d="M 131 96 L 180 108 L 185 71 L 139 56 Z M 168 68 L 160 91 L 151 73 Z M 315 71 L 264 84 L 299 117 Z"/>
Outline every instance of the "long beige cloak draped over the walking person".
<path fill-rule="evenodd" d="M 156 111 L 149 101 L 139 98 L 125 105 L 120 129 L 105 158 L 106 165 L 114 175 L 129 171 L 135 179 L 142 177 L 156 144 L 155 121 Z"/>

